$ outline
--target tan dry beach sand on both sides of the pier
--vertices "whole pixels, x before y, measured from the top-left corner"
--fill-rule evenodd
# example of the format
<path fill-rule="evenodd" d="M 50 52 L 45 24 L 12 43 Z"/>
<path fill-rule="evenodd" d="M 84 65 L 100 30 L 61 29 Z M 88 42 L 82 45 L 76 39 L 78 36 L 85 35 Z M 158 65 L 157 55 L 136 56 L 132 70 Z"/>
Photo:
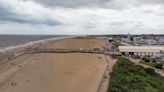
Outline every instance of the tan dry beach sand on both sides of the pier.
<path fill-rule="evenodd" d="M 102 44 L 96 39 L 69 39 L 45 47 L 97 48 Z M 99 54 L 24 55 L 0 65 L 0 92 L 96 92 L 106 66 L 105 56 Z"/>

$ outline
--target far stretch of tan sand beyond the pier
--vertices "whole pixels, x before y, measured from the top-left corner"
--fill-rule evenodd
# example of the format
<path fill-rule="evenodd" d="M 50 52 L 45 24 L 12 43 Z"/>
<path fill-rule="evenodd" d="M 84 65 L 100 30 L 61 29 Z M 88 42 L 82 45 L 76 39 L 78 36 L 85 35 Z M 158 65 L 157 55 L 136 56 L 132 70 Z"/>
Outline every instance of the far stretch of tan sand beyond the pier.
<path fill-rule="evenodd" d="M 50 41 L 44 48 L 101 48 L 104 42 L 100 39 L 72 38 L 61 41 Z"/>

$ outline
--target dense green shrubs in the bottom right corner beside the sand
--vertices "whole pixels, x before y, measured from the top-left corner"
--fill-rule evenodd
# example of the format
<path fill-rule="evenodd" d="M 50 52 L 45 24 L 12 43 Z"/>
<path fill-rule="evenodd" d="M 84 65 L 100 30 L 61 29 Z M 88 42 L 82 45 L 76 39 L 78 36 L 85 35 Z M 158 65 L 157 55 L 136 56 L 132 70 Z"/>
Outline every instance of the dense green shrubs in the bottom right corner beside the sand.
<path fill-rule="evenodd" d="M 111 73 L 108 92 L 164 92 L 164 77 L 154 69 L 134 65 L 126 58 L 112 55 L 118 62 Z"/>

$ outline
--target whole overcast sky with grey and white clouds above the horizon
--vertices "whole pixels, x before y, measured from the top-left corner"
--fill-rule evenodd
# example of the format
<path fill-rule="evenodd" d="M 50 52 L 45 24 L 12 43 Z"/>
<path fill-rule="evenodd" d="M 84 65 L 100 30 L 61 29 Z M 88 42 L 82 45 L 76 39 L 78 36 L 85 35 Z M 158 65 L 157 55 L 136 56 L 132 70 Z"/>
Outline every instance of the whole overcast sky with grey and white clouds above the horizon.
<path fill-rule="evenodd" d="M 0 0 L 0 34 L 164 34 L 164 0 Z"/>

